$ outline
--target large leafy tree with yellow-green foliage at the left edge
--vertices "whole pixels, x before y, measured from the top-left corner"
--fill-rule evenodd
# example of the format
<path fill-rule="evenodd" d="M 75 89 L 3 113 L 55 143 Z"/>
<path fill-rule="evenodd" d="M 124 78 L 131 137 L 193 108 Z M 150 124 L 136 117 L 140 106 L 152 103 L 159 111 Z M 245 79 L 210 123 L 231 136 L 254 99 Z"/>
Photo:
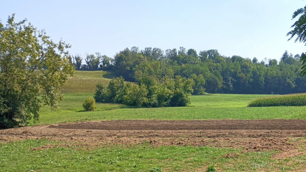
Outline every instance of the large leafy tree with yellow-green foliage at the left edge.
<path fill-rule="evenodd" d="M 63 99 L 60 87 L 73 76 L 64 41 L 54 43 L 43 30 L 13 14 L 0 21 L 0 127 L 39 121 L 40 99 L 52 109 Z"/>

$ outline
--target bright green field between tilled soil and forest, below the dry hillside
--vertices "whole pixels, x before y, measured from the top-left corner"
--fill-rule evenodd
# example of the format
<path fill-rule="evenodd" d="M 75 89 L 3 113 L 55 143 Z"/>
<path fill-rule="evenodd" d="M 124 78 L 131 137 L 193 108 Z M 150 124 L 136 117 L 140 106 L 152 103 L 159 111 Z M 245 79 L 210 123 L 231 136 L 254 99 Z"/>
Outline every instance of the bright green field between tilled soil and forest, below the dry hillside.
<path fill-rule="evenodd" d="M 94 93 L 65 93 L 56 110 L 44 106 L 41 122 L 30 125 L 61 122 L 119 119 L 306 119 L 306 107 L 247 107 L 252 99 L 269 95 L 213 94 L 191 96 L 188 107 L 132 108 L 122 104 L 96 103 L 97 111 L 84 112 L 82 103 Z"/>

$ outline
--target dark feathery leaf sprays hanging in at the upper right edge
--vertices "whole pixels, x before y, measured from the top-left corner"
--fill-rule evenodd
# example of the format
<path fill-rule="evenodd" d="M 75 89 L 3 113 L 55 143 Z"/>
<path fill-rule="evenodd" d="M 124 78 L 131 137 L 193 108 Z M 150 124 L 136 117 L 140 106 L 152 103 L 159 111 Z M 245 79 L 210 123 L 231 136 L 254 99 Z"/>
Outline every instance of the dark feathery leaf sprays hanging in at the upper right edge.
<path fill-rule="evenodd" d="M 305 43 L 306 46 L 306 6 L 304 8 L 297 9 L 292 16 L 292 19 L 298 17 L 298 20 L 294 22 L 291 26 L 293 28 L 292 31 L 287 33 L 287 36 L 290 36 L 288 40 L 291 40 L 293 37 L 297 36 L 295 42 Z M 306 74 L 306 54 L 302 53 L 300 57 L 300 61 L 302 62 L 302 71 L 301 75 Z"/>

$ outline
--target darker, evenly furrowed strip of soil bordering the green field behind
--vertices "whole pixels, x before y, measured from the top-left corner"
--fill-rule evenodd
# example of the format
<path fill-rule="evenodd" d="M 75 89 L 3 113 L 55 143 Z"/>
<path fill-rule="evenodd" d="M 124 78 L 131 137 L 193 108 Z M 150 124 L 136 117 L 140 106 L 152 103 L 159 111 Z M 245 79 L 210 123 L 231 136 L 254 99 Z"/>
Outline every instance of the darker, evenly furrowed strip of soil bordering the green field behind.
<path fill-rule="evenodd" d="M 306 130 L 306 120 L 117 120 L 65 123 L 49 127 L 100 130 Z"/>

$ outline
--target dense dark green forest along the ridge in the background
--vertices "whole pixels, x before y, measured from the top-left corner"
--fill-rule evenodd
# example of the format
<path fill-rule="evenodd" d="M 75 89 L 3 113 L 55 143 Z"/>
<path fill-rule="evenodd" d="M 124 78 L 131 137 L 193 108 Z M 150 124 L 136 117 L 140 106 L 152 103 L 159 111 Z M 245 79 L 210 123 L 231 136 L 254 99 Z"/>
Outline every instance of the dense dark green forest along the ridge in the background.
<path fill-rule="evenodd" d="M 118 73 L 126 81 L 139 83 L 143 78 L 192 78 L 194 95 L 207 93 L 230 94 L 289 94 L 306 92 L 306 77 L 300 75 L 300 55 L 287 50 L 281 60 L 240 56 L 226 57 L 218 50 L 199 53 L 184 47 L 163 51 L 159 48 L 126 48 L 110 58 L 100 53 L 71 56 L 76 70 L 108 70 Z"/>

